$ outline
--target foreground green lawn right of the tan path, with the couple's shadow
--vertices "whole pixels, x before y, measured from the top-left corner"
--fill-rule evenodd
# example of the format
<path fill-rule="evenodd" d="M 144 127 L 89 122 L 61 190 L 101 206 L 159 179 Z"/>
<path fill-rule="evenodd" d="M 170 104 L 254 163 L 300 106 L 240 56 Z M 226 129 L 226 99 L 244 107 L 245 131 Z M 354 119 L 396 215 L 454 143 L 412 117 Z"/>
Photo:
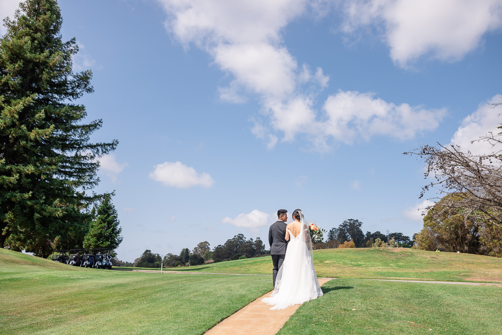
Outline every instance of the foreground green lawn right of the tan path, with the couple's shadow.
<path fill-rule="evenodd" d="M 501 331 L 502 286 L 334 279 L 322 290 L 325 295 L 300 306 L 278 334 Z"/>

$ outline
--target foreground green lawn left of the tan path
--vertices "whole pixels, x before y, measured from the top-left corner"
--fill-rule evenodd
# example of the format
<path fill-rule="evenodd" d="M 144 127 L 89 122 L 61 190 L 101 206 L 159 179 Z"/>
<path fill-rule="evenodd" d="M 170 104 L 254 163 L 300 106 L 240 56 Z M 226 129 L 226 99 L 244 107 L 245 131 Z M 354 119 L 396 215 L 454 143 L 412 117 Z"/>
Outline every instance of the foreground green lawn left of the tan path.
<path fill-rule="evenodd" d="M 84 269 L 0 249 L 0 333 L 201 334 L 269 277 Z"/>

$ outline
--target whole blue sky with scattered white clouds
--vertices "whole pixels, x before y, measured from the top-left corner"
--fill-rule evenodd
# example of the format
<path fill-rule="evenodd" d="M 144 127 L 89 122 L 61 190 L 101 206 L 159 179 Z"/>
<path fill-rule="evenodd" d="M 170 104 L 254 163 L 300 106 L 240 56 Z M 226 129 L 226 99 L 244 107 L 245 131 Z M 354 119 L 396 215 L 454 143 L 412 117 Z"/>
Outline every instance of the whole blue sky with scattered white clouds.
<path fill-rule="evenodd" d="M 59 5 L 93 72 L 92 141 L 119 141 L 96 191 L 115 191 L 124 261 L 267 241 L 278 209 L 411 237 L 436 194 L 419 199 L 424 162 L 403 153 L 484 153 L 470 141 L 502 123 L 502 0 Z"/>

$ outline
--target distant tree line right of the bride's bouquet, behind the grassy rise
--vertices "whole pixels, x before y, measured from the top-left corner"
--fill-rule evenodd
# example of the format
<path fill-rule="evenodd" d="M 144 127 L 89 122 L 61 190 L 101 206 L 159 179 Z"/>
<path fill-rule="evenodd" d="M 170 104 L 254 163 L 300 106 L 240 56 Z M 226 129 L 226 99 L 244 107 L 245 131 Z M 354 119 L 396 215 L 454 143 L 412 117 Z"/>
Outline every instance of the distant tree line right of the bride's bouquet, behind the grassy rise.
<path fill-rule="evenodd" d="M 316 243 L 316 249 L 330 248 L 371 248 L 371 247 L 403 247 L 411 248 L 413 241 L 403 233 L 388 233 L 387 235 L 376 231 L 366 232 L 361 229 L 362 222 L 349 218 L 342 222 L 338 228 L 328 232 L 326 242 Z"/>

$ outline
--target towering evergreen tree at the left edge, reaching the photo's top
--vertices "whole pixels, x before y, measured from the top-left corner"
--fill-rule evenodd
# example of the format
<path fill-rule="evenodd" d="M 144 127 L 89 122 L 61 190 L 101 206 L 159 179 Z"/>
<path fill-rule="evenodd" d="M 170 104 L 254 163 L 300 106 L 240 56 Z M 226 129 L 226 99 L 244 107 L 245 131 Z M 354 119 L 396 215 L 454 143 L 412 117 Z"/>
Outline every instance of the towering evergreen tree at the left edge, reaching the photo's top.
<path fill-rule="evenodd" d="M 43 254 L 57 239 L 76 247 L 85 208 L 101 197 L 97 158 L 117 142 L 90 143 L 101 120 L 81 124 L 90 70 L 73 72 L 75 39 L 63 42 L 56 0 L 27 0 L 0 40 L 0 247 Z M 75 245 L 77 244 L 77 245 Z"/>

